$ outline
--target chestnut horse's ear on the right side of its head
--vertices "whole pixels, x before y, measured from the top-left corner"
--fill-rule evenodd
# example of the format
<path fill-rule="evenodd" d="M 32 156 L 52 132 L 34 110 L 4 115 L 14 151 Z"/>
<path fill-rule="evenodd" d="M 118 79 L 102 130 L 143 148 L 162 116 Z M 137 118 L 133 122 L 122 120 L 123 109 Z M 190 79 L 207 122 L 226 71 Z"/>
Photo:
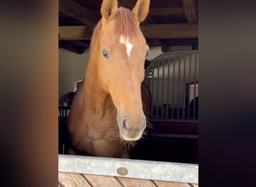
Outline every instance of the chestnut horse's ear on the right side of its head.
<path fill-rule="evenodd" d="M 143 22 L 147 17 L 150 7 L 150 0 L 138 0 L 135 7 L 132 9 L 133 15 L 138 19 L 138 22 Z"/>

